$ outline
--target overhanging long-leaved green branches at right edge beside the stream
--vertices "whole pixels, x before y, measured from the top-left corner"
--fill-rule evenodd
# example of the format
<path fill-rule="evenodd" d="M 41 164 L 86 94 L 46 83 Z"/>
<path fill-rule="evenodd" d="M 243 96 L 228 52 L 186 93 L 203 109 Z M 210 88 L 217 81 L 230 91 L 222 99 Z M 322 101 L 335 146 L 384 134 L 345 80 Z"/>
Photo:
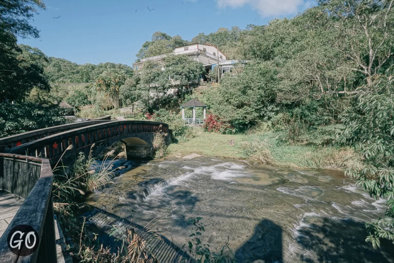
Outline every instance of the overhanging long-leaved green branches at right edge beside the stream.
<path fill-rule="evenodd" d="M 338 142 L 353 146 L 365 159 L 362 168 L 349 168 L 345 174 L 356 177 L 371 197 L 387 198 L 385 217 L 367 223 L 370 235 L 366 241 L 373 247 L 380 246 L 380 238 L 394 242 L 393 87 L 391 76 L 377 77 L 371 86 L 360 87 L 354 109 L 342 116 L 346 128 L 338 134 Z"/>

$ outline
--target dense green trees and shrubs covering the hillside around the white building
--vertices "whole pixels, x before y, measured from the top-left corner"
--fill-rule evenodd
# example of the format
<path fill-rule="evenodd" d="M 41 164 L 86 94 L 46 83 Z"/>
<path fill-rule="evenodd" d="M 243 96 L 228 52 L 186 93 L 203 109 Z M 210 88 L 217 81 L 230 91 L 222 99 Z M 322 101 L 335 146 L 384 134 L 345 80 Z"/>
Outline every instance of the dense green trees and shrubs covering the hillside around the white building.
<path fill-rule="evenodd" d="M 393 5 L 319 0 L 293 18 L 220 28 L 190 42 L 155 32 L 137 59 L 202 43 L 218 46 L 229 59 L 248 61 L 225 74 L 220 85 L 194 89 L 204 67 L 182 55 L 165 58 L 164 70 L 149 62 L 136 73 L 114 63 L 77 65 L 17 45 L 16 36 L 39 37 L 29 20 L 45 6 L 38 0 L 1 2 L 0 137 L 64 123 L 58 106 L 63 100 L 90 118 L 139 102 L 142 118 L 168 122 L 175 141 L 184 143 L 195 135 L 183 126 L 179 105 L 198 98 L 210 111 L 206 132 L 243 136 L 237 155 L 245 158 L 282 163 L 302 153 L 291 162 L 320 167 L 351 147 L 362 163 L 340 165 L 346 175 L 372 197 L 388 200 L 385 217 L 367 224 L 367 241 L 379 247 L 381 238 L 394 241 Z M 166 92 L 169 77 L 179 83 L 174 95 Z M 192 147 L 192 140 L 184 145 Z"/>

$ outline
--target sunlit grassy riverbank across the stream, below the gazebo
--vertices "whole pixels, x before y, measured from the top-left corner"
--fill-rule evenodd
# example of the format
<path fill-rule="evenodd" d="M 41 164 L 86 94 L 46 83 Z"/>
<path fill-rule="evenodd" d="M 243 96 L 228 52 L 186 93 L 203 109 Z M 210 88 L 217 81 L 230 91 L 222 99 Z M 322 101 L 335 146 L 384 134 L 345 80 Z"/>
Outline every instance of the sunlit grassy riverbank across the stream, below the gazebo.
<path fill-rule="evenodd" d="M 362 157 L 351 148 L 290 144 L 281 139 L 280 133 L 273 131 L 238 135 L 207 133 L 200 127 L 194 127 L 193 131 L 192 139 L 169 145 L 166 156 L 194 153 L 206 157 L 252 159 L 290 167 L 330 169 L 360 166 L 362 161 Z"/>

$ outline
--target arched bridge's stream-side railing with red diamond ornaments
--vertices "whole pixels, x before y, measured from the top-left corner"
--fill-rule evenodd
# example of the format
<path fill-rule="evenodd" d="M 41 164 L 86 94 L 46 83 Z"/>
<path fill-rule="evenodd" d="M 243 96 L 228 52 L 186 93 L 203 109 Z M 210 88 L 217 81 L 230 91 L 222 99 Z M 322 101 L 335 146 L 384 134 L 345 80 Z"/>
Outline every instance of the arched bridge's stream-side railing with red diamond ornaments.
<path fill-rule="evenodd" d="M 25 154 L 35 157 L 48 158 L 53 163 L 66 151 L 68 146 L 73 148 L 90 147 L 105 139 L 133 133 L 157 132 L 160 125 L 162 131 L 169 133 L 168 124 L 152 121 L 111 121 L 87 127 L 68 130 L 33 142 L 25 143 L 8 150 L 12 154 Z"/>

